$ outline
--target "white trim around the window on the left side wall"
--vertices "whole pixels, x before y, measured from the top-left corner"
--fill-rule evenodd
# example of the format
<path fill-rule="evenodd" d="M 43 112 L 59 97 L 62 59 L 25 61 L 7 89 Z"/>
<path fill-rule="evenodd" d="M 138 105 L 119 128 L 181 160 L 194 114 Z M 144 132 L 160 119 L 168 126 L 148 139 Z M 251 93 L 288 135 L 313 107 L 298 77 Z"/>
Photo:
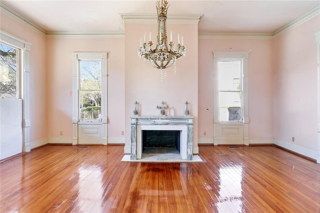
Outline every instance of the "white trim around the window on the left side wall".
<path fill-rule="evenodd" d="M 22 151 L 29 152 L 31 150 L 30 145 L 30 49 L 31 43 L 26 42 L 20 38 L 17 38 L 9 33 L 0 30 L 0 41 L 7 43 L 15 48 L 18 48 L 18 67 L 19 77 L 17 82 L 17 95 L 22 101 L 22 132 L 23 132 L 23 146 Z"/>

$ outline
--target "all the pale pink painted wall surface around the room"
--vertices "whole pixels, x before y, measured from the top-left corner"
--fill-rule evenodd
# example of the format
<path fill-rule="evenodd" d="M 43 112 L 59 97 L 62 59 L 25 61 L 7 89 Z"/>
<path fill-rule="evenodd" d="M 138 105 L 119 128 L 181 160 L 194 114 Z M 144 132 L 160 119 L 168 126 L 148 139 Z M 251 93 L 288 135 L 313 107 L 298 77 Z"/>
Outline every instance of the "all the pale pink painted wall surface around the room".
<path fill-rule="evenodd" d="M 133 102 L 140 115 L 154 115 L 163 100 L 181 115 L 184 101 L 195 117 L 194 140 L 213 138 L 212 51 L 249 54 L 249 140 L 272 140 L 316 150 L 317 15 L 274 39 L 198 39 L 196 24 L 168 24 L 184 35 L 186 56 L 160 81 L 155 68 L 138 59 L 140 36 L 155 24 L 125 24 L 124 38 L 45 38 L 1 12 L 1 30 L 32 44 L 30 51 L 30 141 L 72 136 L 72 60 L 74 51 L 108 52 L 108 136 L 130 142 Z M 148 36 L 147 36 L 148 37 Z M 205 110 L 209 108 L 209 110 Z M 206 136 L 202 135 L 206 131 Z M 199 133 L 198 133 L 199 132 Z M 291 142 L 291 137 L 295 142 Z"/>

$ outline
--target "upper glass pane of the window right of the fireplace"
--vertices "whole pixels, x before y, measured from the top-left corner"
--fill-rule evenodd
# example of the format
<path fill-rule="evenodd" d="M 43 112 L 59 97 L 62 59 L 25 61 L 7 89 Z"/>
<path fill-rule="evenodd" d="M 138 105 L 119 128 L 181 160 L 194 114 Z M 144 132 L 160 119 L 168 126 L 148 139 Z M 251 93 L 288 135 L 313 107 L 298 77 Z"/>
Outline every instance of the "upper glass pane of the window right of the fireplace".
<path fill-rule="evenodd" d="M 240 90 L 240 60 L 219 61 L 219 90 Z"/>

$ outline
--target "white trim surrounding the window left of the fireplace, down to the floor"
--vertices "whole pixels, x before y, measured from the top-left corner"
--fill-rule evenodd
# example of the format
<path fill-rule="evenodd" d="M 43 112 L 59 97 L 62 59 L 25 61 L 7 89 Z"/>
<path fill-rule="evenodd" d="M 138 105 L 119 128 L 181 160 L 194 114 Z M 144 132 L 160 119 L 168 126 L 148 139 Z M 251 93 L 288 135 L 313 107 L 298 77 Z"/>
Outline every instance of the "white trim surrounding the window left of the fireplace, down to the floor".
<path fill-rule="evenodd" d="M 99 136 L 100 142 L 106 145 L 107 140 L 107 52 L 73 52 L 72 53 L 72 144 L 78 143 L 78 125 L 80 124 L 98 124 L 100 127 Z M 79 107 L 78 107 L 78 66 L 79 60 L 101 60 L 102 68 L 102 88 L 101 88 L 101 120 L 80 120 L 79 119 Z M 92 121 L 92 122 L 91 122 Z"/>

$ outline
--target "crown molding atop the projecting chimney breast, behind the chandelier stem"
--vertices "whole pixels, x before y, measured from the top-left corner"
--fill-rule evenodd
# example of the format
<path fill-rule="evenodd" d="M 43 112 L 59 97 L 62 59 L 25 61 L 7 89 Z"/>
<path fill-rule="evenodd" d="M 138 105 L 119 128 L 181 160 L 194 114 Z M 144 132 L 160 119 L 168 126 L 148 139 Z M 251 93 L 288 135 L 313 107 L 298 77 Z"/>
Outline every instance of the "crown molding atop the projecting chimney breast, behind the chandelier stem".
<path fill-rule="evenodd" d="M 121 13 L 124 23 L 156 23 L 156 14 Z M 167 23 L 198 24 L 203 14 L 170 14 L 166 16 Z"/>

